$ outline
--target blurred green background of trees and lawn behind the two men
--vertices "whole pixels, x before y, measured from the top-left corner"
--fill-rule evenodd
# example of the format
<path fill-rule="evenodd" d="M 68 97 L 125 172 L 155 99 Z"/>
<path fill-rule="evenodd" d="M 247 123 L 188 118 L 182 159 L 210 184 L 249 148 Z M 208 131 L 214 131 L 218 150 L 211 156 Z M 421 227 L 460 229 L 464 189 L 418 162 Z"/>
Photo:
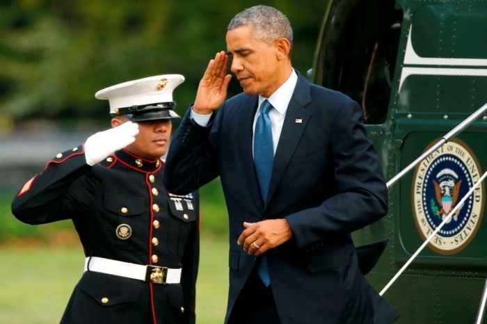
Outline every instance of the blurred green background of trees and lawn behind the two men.
<path fill-rule="evenodd" d="M 183 74 L 186 81 L 174 98 L 175 110 L 184 114 L 209 59 L 226 49 L 230 19 L 257 4 L 287 15 L 294 29 L 293 65 L 305 75 L 327 2 L 1 0 L 0 323 L 56 323 L 81 276 L 83 254 L 71 222 L 24 225 L 11 215 L 10 202 L 50 156 L 72 145 L 55 139 L 76 142 L 109 127 L 109 106 L 95 99 L 97 90 Z M 235 79 L 229 92 L 241 92 Z M 46 133 L 50 137 L 42 137 Z M 219 179 L 200 192 L 198 323 L 223 323 L 227 211 Z"/>

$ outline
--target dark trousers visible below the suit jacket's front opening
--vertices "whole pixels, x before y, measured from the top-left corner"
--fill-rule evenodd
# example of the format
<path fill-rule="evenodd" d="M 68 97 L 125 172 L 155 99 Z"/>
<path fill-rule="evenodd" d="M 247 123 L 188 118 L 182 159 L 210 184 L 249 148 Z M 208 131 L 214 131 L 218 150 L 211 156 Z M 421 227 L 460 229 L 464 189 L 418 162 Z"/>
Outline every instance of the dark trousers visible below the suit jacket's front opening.
<path fill-rule="evenodd" d="M 271 286 L 262 283 L 254 268 L 235 301 L 228 324 L 280 324 Z"/>

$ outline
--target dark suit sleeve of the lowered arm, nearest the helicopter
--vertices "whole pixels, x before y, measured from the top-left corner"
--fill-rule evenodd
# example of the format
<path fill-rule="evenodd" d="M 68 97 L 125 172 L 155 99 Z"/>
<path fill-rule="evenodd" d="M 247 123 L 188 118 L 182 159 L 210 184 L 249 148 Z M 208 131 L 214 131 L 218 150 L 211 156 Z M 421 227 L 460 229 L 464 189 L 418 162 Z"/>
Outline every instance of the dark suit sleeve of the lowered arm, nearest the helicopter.
<path fill-rule="evenodd" d="M 321 205 L 286 216 L 298 247 L 308 248 L 379 220 L 388 195 L 378 156 L 362 122 L 362 110 L 347 101 L 337 111 L 330 140 L 337 194 Z"/>

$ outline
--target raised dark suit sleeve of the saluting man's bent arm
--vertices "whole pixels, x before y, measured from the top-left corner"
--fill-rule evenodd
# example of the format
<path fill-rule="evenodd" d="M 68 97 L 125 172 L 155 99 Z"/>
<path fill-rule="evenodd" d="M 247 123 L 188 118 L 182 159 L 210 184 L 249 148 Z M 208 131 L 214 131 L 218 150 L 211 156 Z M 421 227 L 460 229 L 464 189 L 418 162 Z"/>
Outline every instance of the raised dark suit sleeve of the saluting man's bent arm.
<path fill-rule="evenodd" d="M 218 177 L 217 150 L 223 106 L 216 118 L 211 116 L 207 127 L 189 117 L 191 106 L 186 111 L 166 160 L 164 185 L 170 193 L 184 195 Z"/>

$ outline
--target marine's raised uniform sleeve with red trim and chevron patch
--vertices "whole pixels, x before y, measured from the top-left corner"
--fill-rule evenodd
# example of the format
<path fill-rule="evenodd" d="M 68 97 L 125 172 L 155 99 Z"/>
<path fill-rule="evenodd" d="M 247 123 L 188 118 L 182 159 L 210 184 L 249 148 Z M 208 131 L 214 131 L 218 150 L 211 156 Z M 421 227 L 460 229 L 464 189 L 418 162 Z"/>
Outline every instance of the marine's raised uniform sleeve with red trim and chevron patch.
<path fill-rule="evenodd" d="M 72 218 L 70 211 L 77 209 L 78 202 L 70 195 L 70 187 L 90 168 L 83 145 L 76 152 L 63 152 L 17 193 L 12 202 L 13 215 L 31 225 Z"/>

